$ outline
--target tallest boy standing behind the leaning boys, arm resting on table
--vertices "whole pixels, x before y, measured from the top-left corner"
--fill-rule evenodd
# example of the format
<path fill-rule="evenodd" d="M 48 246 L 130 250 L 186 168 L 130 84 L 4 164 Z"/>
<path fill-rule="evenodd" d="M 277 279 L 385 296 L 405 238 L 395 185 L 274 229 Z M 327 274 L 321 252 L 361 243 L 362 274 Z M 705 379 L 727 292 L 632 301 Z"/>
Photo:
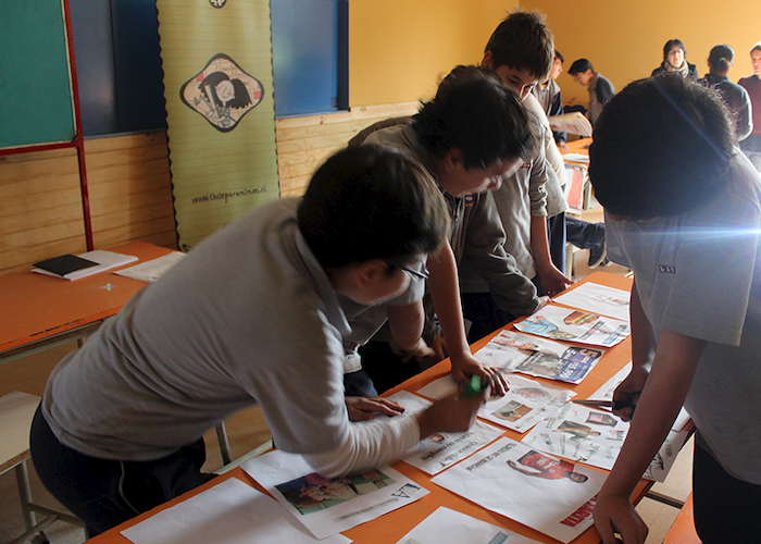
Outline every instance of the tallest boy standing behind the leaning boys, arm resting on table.
<path fill-rule="evenodd" d="M 550 259 L 547 218 L 564 211 L 566 205 L 560 182 L 546 159 L 547 143 L 556 151 L 557 148 L 551 141 L 552 136 L 546 133 L 545 123 L 537 119 L 544 112 L 532 95 L 534 86 L 550 73 L 553 58 L 552 33 L 541 17 L 535 13 L 515 12 L 494 32 L 482 60 L 482 65 L 497 72 L 524 106 L 534 112 L 532 128 L 539 145 L 525 157 L 516 172 L 504 177 L 494 196 L 508 237 L 506 250 L 515 258 L 519 270 L 538 284 L 546 295 L 554 295 L 571 283 Z M 472 339 L 517 317 L 500 311 L 467 257 L 463 259 L 460 279 L 465 317 L 474 323 L 473 331 L 477 331 Z"/>

